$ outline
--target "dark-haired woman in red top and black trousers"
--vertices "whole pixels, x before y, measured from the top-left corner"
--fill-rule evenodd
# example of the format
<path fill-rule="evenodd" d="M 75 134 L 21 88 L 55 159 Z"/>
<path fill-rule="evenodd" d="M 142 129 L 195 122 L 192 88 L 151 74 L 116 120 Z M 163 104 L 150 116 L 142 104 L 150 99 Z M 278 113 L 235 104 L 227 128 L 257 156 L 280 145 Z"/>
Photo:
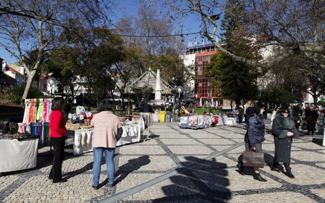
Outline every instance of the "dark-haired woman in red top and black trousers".
<path fill-rule="evenodd" d="M 62 179 L 62 162 L 64 160 L 64 143 L 67 140 L 66 120 L 64 120 L 62 110 L 66 106 L 62 97 L 55 97 L 52 101 L 52 112 L 50 114 L 49 127 L 50 138 L 54 146 L 54 159 L 49 179 L 53 183 L 67 182 Z"/>

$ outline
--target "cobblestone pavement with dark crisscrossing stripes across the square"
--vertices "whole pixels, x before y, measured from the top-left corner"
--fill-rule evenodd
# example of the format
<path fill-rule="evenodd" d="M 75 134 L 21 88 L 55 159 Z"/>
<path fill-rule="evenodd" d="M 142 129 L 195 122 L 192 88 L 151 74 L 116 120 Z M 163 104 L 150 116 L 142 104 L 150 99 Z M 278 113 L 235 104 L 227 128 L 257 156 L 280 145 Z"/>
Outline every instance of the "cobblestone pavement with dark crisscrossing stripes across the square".
<path fill-rule="evenodd" d="M 266 126 L 270 122 L 266 121 Z M 92 153 L 66 154 L 66 183 L 47 179 L 51 161 L 49 147 L 39 149 L 32 170 L 0 177 L 3 202 L 324 202 L 325 147 L 323 130 L 314 136 L 306 130 L 294 140 L 291 170 L 295 179 L 270 170 L 274 143 L 267 129 L 263 145 L 266 165 L 261 169 L 268 182 L 253 180 L 252 168 L 245 175 L 236 164 L 244 151 L 244 124 L 204 129 L 181 129 L 176 123 L 154 123 L 151 141 L 116 148 L 116 182 L 105 188 L 106 164 L 102 164 L 101 188 L 93 190 Z M 146 133 L 146 132 L 145 132 Z M 283 164 L 281 163 L 283 166 Z M 282 167 L 281 166 L 281 167 Z M 282 167 L 283 170 L 283 167 Z"/>

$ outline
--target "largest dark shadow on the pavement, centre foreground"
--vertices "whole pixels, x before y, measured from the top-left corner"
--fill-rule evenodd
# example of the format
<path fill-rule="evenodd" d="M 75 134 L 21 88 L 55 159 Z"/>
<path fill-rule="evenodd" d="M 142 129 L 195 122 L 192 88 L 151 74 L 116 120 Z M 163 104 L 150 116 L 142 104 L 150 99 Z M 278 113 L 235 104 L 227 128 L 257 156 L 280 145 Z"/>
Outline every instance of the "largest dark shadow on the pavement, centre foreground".
<path fill-rule="evenodd" d="M 162 187 L 165 197 L 152 202 L 224 202 L 231 199 L 226 164 L 193 156 L 185 157 L 184 167 L 177 168 L 179 173 L 170 180 L 174 183 Z M 192 167 L 194 166 L 194 167 Z M 189 167 L 192 167 L 189 169 Z"/>

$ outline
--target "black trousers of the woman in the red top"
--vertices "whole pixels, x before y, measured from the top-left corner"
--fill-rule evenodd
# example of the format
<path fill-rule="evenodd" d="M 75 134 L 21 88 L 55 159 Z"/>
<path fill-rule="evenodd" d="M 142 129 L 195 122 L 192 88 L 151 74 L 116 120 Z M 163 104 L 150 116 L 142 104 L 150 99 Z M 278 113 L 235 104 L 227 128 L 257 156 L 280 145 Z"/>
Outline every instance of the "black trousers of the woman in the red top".
<path fill-rule="evenodd" d="M 51 138 L 51 143 L 54 148 L 54 158 L 49 178 L 52 179 L 54 183 L 62 178 L 62 163 L 64 160 L 64 144 L 66 140 L 67 136 Z"/>

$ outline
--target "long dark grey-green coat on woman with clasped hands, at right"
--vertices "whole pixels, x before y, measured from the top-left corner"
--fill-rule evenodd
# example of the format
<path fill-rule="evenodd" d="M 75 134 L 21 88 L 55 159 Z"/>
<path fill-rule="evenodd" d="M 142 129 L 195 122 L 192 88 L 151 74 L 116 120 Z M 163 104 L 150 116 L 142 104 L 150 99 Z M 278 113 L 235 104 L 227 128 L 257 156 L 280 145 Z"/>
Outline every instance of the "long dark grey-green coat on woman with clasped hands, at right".
<path fill-rule="evenodd" d="M 286 137 L 288 131 L 294 133 L 292 137 Z M 276 162 L 290 163 L 291 144 L 293 138 L 299 136 L 295 120 L 292 115 L 283 117 L 281 113 L 276 114 L 272 123 L 272 136 L 274 136 L 274 160 Z"/>

